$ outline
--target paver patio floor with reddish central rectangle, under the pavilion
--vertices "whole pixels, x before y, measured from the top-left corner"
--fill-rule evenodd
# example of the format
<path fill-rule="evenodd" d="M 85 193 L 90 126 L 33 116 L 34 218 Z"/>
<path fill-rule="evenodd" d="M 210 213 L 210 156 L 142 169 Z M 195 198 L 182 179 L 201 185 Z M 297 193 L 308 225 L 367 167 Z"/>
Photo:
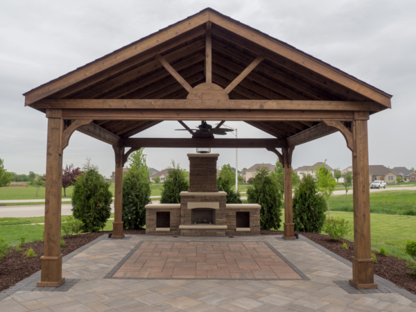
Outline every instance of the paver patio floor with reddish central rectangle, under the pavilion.
<path fill-rule="evenodd" d="M 145 266 L 146 261 L 150 264 L 162 257 L 164 260 L 154 269 L 162 268 L 160 272 L 163 272 L 169 257 L 175 257 L 177 249 L 183 252 L 187 247 L 192 250 L 189 254 L 196 250 L 195 262 L 191 261 L 196 268 L 200 260 L 196 259 L 198 250 L 204 254 L 203 246 L 207 250 L 212 248 L 211 252 L 205 252 L 205 261 L 219 257 L 209 254 L 222 254 L 225 260 L 226 256 L 234 257 L 241 252 L 243 247 L 255 250 L 253 246 L 257 246 L 257 252 L 267 252 L 278 263 L 283 261 L 279 265 L 287 265 L 297 278 L 293 275 L 291 279 L 281 279 L 268 260 L 256 261 L 255 256 L 243 252 L 241 256 L 253 256 L 251 260 L 247 258 L 250 265 L 245 267 L 242 261 L 239 266 L 238 258 L 234 258 L 235 263 L 228 268 L 229 275 L 234 270 L 232 267 L 250 271 L 263 267 L 277 275 L 272 279 L 264 276 L 175 278 L 175 266 L 172 266 L 171 278 L 149 277 L 151 270 L 146 278 L 119 275 L 128 272 L 122 270 L 123 266 L 132 265 L 134 272 L 135 262 L 144 261 Z M 217 252 L 214 246 L 218 247 Z M 150 250 L 158 250 L 161 257 L 139 260 Z M 193 257 L 189 254 L 184 258 Z M 220 263 L 217 262 L 217 268 Z M 415 295 L 380 277 L 376 277 L 379 289 L 357 291 L 349 286 L 348 279 L 352 276 L 349 261 L 302 236 L 295 241 L 268 235 L 234 238 L 128 235 L 122 240 L 102 236 L 64 257 L 63 276 L 66 282 L 58 288 L 37 288 L 40 272 L 35 273 L 0 293 L 0 311 L 416 311 Z"/>

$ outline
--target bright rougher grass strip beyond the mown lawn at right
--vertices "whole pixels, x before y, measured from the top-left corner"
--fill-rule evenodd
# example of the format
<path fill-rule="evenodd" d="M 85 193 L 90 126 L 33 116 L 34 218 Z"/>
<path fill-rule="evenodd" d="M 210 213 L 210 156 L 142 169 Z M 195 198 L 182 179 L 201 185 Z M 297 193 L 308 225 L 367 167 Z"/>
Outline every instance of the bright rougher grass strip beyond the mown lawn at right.
<path fill-rule="evenodd" d="M 352 200 L 352 194 L 331 196 L 329 207 L 334 211 L 354 211 Z M 416 192 L 401 190 L 370 193 L 370 211 L 374 214 L 416 216 Z"/>

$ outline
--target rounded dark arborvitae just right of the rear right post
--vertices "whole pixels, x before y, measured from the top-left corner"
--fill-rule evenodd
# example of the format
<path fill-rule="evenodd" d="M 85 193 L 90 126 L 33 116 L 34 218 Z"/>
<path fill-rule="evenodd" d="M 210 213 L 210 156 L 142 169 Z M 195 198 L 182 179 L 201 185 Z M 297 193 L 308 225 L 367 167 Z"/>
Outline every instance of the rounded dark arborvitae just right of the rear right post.
<path fill-rule="evenodd" d="M 303 177 L 293 197 L 295 231 L 320 233 L 325 221 L 326 205 L 313 177 Z"/>

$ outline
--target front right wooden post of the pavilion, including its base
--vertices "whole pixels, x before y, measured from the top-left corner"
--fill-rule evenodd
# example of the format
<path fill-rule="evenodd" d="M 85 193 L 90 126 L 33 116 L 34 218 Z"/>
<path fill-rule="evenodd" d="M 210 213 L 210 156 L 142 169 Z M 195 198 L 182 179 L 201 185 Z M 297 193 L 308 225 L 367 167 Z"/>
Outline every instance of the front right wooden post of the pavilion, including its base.
<path fill-rule="evenodd" d="M 358 289 L 377 288 L 374 284 L 373 259 L 370 238 L 370 189 L 368 168 L 367 119 L 357 114 L 352 123 L 354 153 L 352 153 L 354 196 L 354 256 L 352 279 L 349 284 Z"/>

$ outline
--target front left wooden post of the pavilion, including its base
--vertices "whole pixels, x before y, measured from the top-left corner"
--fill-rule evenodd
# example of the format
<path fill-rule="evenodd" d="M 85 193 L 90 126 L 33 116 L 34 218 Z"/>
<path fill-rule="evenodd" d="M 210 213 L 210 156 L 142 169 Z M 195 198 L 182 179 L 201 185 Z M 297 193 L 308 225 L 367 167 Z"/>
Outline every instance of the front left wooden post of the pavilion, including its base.
<path fill-rule="evenodd" d="M 46 191 L 44 255 L 40 257 L 41 275 L 37 286 L 58 287 L 62 278 L 62 254 L 60 253 L 60 222 L 62 204 L 62 130 L 60 110 L 47 110 L 48 139 L 46 147 Z"/>

